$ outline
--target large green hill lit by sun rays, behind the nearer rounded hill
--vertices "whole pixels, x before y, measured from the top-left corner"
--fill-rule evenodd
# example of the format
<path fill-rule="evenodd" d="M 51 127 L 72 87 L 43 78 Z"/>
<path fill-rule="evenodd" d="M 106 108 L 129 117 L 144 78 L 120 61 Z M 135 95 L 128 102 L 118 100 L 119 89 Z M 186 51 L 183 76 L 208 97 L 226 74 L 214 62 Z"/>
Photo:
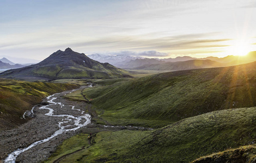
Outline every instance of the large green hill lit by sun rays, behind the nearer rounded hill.
<path fill-rule="evenodd" d="M 161 73 L 92 87 L 83 94 L 112 124 L 163 127 L 206 112 L 255 106 L 255 67 L 252 62 Z"/>

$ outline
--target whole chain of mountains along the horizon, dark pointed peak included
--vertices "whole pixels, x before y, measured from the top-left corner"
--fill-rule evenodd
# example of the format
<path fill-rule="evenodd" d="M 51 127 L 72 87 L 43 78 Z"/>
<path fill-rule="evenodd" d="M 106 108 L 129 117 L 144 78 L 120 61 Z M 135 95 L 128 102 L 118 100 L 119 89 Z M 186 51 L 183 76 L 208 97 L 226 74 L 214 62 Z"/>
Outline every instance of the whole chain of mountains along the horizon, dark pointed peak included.
<path fill-rule="evenodd" d="M 97 60 L 97 61 L 95 61 Z M 23 65 L 14 64 L 7 58 L 2 58 L 0 68 L 20 68 Z M 224 58 L 206 57 L 176 57 L 167 59 L 149 59 L 142 57 L 131 57 L 127 55 L 102 55 L 90 54 L 88 57 L 83 53 L 76 53 L 70 48 L 64 52 L 57 51 L 50 57 L 38 64 L 24 67 L 19 70 L 11 70 L 1 74 L 3 77 L 24 78 L 36 77 L 46 79 L 60 78 L 118 78 L 129 74 L 120 68 L 133 70 L 160 70 L 179 71 L 196 68 L 226 67 L 256 61 L 256 52 L 248 55 L 233 56 Z M 101 62 L 105 62 L 102 64 Z M 111 63 L 117 67 L 114 67 Z"/>

